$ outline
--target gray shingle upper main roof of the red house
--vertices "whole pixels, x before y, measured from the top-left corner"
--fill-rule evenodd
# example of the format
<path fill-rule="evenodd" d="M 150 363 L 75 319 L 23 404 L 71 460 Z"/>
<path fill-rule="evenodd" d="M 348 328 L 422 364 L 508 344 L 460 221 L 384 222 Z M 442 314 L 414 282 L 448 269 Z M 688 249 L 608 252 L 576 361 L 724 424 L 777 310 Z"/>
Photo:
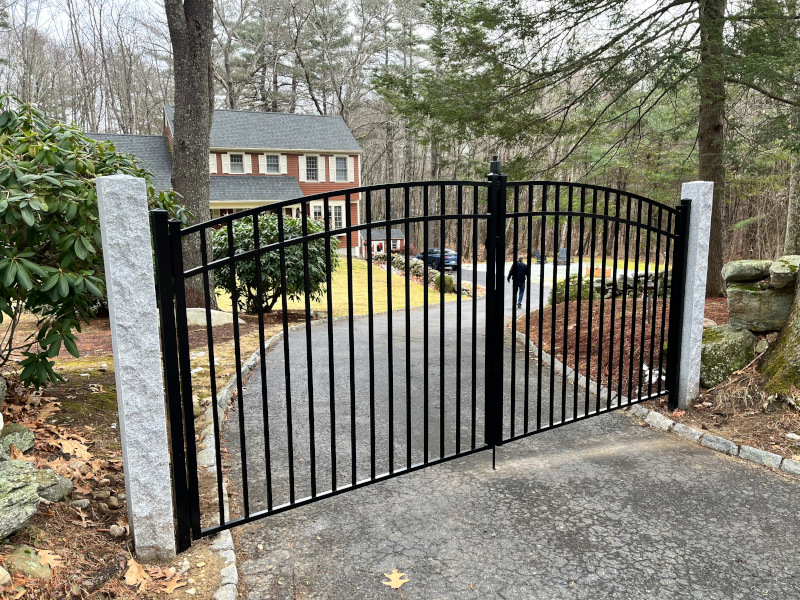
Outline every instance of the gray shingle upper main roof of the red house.
<path fill-rule="evenodd" d="M 165 106 L 164 113 L 174 131 L 174 107 Z M 342 117 L 241 110 L 214 111 L 211 147 L 361 152 Z"/>

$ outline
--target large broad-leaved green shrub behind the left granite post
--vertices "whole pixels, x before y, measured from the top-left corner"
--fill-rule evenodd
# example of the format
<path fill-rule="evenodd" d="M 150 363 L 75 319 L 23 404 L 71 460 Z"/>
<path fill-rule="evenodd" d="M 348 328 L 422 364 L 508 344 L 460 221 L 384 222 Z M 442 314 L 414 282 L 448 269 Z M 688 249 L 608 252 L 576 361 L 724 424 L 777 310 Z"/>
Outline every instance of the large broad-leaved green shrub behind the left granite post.
<path fill-rule="evenodd" d="M 24 385 L 62 379 L 52 359 L 62 346 L 78 356 L 74 332 L 104 297 L 95 178 L 117 173 L 145 178 L 151 208 L 191 216 L 132 156 L 0 95 L 0 368 L 21 367 Z M 15 340 L 25 312 L 36 332 Z"/>

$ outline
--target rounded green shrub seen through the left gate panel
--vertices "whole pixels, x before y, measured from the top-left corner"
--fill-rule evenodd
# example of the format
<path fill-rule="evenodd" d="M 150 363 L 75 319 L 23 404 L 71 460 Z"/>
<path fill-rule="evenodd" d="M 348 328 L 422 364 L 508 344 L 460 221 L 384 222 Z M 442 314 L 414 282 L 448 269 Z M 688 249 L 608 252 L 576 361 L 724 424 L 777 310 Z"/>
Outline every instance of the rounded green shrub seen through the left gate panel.
<path fill-rule="evenodd" d="M 290 240 L 301 237 L 303 234 L 303 220 L 301 218 L 283 219 L 284 239 Z M 325 231 L 323 221 L 308 219 L 307 230 L 309 234 Z M 278 243 L 278 215 L 262 214 L 258 218 L 258 232 L 262 246 Z M 217 229 L 212 238 L 214 256 L 223 258 L 228 256 L 227 229 Z M 339 242 L 330 238 L 331 268 L 339 266 L 339 255 L 336 250 Z M 261 292 L 258 295 L 258 273 L 256 261 L 244 260 L 235 263 L 236 289 L 231 286 L 230 266 L 221 267 L 217 273 L 216 285 L 227 291 L 237 299 L 239 308 L 248 313 L 256 313 L 263 306 L 265 312 L 271 312 L 275 303 L 283 294 L 283 282 L 286 281 L 286 296 L 289 300 L 299 300 L 305 293 L 305 268 L 308 265 L 310 288 L 308 294 L 312 300 L 321 300 L 325 293 L 326 283 L 326 256 L 324 239 L 308 242 L 308 263 L 303 257 L 303 244 L 297 243 L 286 246 L 285 264 L 286 277 L 281 276 L 280 252 L 277 250 L 261 255 Z M 233 248 L 234 255 L 248 252 L 255 248 L 253 240 L 253 217 L 243 217 L 233 222 Z"/>

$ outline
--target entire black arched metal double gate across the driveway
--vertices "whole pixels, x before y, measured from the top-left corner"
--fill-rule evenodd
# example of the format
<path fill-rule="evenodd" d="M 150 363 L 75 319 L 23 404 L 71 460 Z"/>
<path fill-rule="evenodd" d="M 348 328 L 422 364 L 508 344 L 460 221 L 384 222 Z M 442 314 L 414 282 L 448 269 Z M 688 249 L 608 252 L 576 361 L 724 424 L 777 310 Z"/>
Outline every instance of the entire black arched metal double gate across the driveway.
<path fill-rule="evenodd" d="M 154 211 L 179 547 L 677 398 L 689 208 L 508 182 L 495 159 L 485 182 L 351 188 L 183 229 Z M 232 323 L 212 326 L 214 295 Z"/>

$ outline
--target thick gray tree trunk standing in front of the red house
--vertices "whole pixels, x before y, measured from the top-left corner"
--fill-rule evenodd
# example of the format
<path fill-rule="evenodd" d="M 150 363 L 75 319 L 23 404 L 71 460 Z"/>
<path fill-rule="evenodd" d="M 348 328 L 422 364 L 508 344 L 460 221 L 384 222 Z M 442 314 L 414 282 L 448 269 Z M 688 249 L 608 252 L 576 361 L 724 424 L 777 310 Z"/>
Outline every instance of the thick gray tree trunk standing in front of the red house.
<path fill-rule="evenodd" d="M 208 152 L 214 97 L 213 6 L 213 0 L 164 0 L 175 70 L 172 187 L 194 214 L 195 223 L 211 218 Z M 207 242 L 210 257 L 210 236 Z M 185 267 L 199 265 L 200 257 L 199 236 L 190 236 L 184 245 Z M 210 284 L 216 308 L 213 279 Z M 186 302 L 189 306 L 205 304 L 200 277 L 188 282 Z"/>

